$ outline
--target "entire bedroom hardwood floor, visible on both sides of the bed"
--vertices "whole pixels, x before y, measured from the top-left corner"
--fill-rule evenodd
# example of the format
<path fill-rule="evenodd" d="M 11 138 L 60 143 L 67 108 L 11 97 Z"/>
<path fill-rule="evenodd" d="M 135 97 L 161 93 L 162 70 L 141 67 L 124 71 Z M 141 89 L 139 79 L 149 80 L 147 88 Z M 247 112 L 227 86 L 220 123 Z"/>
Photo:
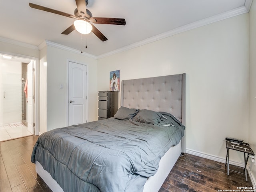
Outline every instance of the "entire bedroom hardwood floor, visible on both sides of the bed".
<path fill-rule="evenodd" d="M 30 161 L 38 136 L 0 142 L 0 192 L 51 192 L 36 174 Z M 242 171 L 231 166 L 230 169 Z M 180 156 L 159 192 L 217 192 L 252 186 L 250 177 L 236 172 L 226 174 L 225 164 L 185 154 Z"/>

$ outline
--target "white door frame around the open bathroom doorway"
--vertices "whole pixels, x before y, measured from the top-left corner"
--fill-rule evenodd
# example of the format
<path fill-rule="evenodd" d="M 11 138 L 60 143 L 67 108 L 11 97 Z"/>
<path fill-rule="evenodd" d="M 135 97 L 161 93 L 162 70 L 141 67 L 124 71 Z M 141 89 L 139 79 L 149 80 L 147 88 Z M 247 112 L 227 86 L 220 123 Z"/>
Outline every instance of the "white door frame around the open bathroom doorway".
<path fill-rule="evenodd" d="M 1 52 L 0 54 L 10 55 L 16 58 L 28 59 L 34 61 L 34 110 L 33 110 L 33 122 L 34 135 L 39 134 L 39 58 L 31 57 L 27 55 L 15 54 L 11 52 Z"/>

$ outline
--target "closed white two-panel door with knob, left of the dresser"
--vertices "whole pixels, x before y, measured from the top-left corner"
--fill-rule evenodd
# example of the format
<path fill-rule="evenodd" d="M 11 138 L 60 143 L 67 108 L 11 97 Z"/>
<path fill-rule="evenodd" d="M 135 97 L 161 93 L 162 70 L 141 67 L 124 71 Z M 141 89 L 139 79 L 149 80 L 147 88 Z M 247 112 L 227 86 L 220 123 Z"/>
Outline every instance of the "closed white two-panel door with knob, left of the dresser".
<path fill-rule="evenodd" d="M 68 125 L 86 122 L 86 65 L 68 64 Z"/>

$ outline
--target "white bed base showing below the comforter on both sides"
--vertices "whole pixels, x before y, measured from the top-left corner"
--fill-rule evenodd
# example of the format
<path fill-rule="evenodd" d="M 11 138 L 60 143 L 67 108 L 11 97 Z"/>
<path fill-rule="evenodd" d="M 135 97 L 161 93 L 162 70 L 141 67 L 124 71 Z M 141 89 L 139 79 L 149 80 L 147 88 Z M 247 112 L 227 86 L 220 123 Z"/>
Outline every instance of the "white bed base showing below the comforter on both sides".
<path fill-rule="evenodd" d="M 172 167 L 176 163 L 177 159 L 181 154 L 181 142 L 171 147 L 161 158 L 159 162 L 159 168 L 154 176 L 149 177 L 146 184 L 144 185 L 143 192 L 158 192 L 161 188 L 165 178 L 168 176 Z M 42 165 L 36 161 L 36 172 L 37 174 L 44 180 L 44 182 L 48 185 L 48 187 L 53 192 L 64 192 L 59 184 L 52 178 L 50 173 L 48 173 Z"/>

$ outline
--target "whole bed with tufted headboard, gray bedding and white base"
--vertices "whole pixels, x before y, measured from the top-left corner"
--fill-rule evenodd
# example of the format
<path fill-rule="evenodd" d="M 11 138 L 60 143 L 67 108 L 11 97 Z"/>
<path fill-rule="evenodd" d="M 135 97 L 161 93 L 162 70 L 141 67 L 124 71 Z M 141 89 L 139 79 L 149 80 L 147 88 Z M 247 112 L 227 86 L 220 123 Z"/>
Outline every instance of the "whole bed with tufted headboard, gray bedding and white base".
<path fill-rule="evenodd" d="M 54 192 L 158 192 L 186 149 L 185 102 L 186 74 L 123 80 L 114 118 L 40 135 L 36 172 Z"/>

